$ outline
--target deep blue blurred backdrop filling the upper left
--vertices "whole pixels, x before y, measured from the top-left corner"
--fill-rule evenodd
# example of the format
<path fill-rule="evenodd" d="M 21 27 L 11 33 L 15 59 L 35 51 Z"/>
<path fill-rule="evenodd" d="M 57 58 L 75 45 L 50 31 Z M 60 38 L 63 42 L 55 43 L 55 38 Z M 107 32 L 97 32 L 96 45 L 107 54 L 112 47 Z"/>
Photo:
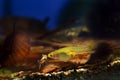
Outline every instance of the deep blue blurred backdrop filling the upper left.
<path fill-rule="evenodd" d="M 19 16 L 44 20 L 50 18 L 48 27 L 57 26 L 60 10 L 69 0 L 0 0 L 0 17 Z"/>

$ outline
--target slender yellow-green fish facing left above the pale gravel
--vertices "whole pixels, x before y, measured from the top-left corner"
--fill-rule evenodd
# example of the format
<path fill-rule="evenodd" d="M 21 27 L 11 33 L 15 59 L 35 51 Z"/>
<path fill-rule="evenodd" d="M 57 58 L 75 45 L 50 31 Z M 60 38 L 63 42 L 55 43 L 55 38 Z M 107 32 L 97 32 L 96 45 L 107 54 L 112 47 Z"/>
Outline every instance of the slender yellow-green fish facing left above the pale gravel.
<path fill-rule="evenodd" d="M 73 59 L 83 59 L 94 53 L 94 48 L 91 46 L 71 46 L 58 49 L 47 55 L 48 58 L 57 59 L 61 61 L 75 61 Z"/>

